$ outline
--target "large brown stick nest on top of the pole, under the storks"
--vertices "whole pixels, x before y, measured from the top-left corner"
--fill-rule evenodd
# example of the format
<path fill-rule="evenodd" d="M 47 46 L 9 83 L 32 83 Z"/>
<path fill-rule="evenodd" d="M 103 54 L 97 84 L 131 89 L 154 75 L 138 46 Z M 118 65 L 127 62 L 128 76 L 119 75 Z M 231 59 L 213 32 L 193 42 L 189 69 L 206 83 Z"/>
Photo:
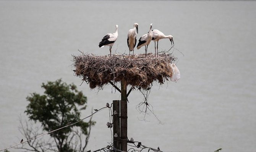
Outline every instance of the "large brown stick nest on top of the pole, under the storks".
<path fill-rule="evenodd" d="M 172 54 L 113 55 L 110 57 L 93 54 L 73 55 L 75 75 L 83 78 L 91 89 L 102 88 L 107 83 L 125 81 L 127 85 L 147 89 L 154 81 L 163 84 L 172 76 Z"/>

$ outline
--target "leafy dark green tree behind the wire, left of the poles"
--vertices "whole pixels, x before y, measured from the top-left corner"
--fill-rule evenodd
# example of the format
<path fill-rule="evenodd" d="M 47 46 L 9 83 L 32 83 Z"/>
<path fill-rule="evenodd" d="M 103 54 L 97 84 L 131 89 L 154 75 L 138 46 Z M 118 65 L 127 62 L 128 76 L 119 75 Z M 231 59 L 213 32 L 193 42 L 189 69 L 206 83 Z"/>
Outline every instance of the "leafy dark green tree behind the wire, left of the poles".
<path fill-rule="evenodd" d="M 61 79 L 58 79 L 55 82 L 42 83 L 41 87 L 45 90 L 43 95 L 32 93 L 26 98 L 29 104 L 26 107 L 25 113 L 28 115 L 29 120 L 40 122 L 42 130 L 45 131 L 56 130 L 80 120 L 80 110 L 86 109 L 87 98 L 81 91 L 77 90 L 74 84 L 67 85 Z M 89 122 L 80 121 L 50 133 L 50 138 L 54 139 L 55 145 L 53 143 L 37 143 L 35 145 L 33 142 L 29 142 L 29 146 L 34 151 L 53 150 L 56 147 L 55 151 L 58 152 L 84 152 L 88 143 L 91 126 L 94 124 L 95 122 L 91 119 Z M 27 133 L 24 133 L 24 135 L 27 135 L 26 138 L 29 138 L 28 135 L 31 136 L 32 131 L 23 129 L 23 132 L 26 131 Z M 82 135 L 86 136 L 84 141 L 82 140 Z M 46 145 L 50 145 L 50 147 L 42 149 Z"/>

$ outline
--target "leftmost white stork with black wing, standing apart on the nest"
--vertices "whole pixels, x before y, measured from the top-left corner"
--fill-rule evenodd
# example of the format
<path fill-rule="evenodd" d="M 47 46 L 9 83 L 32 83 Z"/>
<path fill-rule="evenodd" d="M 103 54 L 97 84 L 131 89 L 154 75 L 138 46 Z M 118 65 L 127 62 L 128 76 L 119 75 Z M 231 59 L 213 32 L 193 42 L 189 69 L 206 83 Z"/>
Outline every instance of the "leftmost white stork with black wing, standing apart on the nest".
<path fill-rule="evenodd" d="M 115 25 L 115 33 L 107 33 L 99 43 L 99 47 L 109 46 L 110 57 L 111 49 L 118 37 L 118 25 Z"/>

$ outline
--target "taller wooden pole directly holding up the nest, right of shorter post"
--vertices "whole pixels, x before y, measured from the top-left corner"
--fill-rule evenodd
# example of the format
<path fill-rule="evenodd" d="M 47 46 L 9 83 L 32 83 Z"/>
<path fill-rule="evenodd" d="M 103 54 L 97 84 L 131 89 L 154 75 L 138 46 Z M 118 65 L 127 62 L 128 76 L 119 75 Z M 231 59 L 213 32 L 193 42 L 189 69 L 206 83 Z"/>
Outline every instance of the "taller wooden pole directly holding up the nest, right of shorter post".
<path fill-rule="evenodd" d="M 121 81 L 121 101 L 120 101 L 120 150 L 127 152 L 127 84 Z"/>

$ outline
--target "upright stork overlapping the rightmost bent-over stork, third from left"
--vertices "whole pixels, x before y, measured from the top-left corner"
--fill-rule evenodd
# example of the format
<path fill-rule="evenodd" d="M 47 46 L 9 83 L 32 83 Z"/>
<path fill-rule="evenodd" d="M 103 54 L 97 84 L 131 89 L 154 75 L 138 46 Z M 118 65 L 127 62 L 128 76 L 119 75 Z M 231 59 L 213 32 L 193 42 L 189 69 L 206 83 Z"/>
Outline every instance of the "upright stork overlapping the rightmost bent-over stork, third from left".
<path fill-rule="evenodd" d="M 141 36 L 141 38 L 139 38 L 139 43 L 137 45 L 137 49 L 140 49 L 142 46 L 145 46 L 146 56 L 147 56 L 147 46 L 149 45 L 153 37 L 152 26 L 153 24 L 150 24 L 149 32 Z"/>

